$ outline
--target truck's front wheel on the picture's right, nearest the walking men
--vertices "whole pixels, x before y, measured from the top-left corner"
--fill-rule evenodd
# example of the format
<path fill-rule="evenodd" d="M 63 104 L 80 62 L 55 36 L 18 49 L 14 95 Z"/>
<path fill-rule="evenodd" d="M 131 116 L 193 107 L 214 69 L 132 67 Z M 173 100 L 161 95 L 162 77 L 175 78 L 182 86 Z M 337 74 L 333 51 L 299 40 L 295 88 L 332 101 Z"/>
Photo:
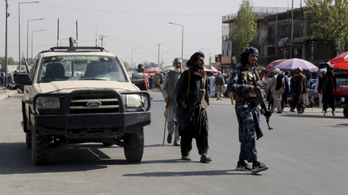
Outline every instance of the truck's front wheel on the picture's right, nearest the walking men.
<path fill-rule="evenodd" d="M 124 138 L 124 155 L 127 162 L 140 162 L 144 154 L 144 129 L 136 133 L 127 134 Z"/>

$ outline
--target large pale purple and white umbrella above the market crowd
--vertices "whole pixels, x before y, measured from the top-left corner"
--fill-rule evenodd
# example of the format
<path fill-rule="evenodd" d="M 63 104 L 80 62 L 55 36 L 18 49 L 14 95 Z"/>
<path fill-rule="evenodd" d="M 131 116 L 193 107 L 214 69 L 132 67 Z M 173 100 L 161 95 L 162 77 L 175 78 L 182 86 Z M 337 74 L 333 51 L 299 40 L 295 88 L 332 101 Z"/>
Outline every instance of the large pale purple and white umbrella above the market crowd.
<path fill-rule="evenodd" d="M 278 68 L 280 70 L 285 70 L 285 71 L 295 71 L 297 67 L 301 67 L 302 70 L 309 71 L 309 72 L 319 71 L 319 68 L 316 67 L 314 64 L 306 60 L 302 60 L 298 58 L 292 58 L 292 59 L 282 61 L 278 65 L 273 67 L 273 70 Z"/>

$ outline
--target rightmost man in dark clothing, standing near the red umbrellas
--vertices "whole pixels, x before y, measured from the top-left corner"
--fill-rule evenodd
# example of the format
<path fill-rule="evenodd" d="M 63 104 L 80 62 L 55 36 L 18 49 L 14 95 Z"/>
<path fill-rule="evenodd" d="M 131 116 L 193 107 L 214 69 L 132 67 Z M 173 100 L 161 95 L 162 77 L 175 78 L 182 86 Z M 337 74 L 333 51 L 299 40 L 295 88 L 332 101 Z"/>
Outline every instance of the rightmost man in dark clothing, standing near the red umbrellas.
<path fill-rule="evenodd" d="M 336 115 L 336 97 L 331 94 L 331 92 L 336 91 L 337 89 L 336 77 L 334 69 L 331 66 L 328 66 L 326 70 L 327 73 L 323 75 L 323 79 L 319 85 L 319 89 L 323 89 L 322 91 L 319 91 L 319 93 L 323 93 L 324 116 L 328 115 L 328 105 L 332 108 L 332 115 Z"/>

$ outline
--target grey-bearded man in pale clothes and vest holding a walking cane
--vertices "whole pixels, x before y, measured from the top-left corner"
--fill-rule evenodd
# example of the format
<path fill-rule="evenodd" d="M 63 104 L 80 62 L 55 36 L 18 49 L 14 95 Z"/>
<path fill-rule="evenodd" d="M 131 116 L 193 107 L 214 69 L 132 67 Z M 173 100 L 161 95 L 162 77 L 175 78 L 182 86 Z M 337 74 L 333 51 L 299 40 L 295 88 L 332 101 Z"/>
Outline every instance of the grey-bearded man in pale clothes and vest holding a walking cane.
<path fill-rule="evenodd" d="M 180 137 L 179 137 L 179 125 L 175 117 L 175 108 L 176 108 L 176 98 L 175 98 L 175 86 L 181 76 L 181 58 L 174 59 L 174 70 L 169 71 L 163 84 L 161 85 L 161 92 L 163 98 L 166 100 L 168 105 L 167 109 L 167 122 L 168 122 L 168 137 L 167 142 L 171 144 L 173 142 L 174 134 L 174 146 L 180 146 Z M 165 113 L 166 114 L 166 113 Z"/>

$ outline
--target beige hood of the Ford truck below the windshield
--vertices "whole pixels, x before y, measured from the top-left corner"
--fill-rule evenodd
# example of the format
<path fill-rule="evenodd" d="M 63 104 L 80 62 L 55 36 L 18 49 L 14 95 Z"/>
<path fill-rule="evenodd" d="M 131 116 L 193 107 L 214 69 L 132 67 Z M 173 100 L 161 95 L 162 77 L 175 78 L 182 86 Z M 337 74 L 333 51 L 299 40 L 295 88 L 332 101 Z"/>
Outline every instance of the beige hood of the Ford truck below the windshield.
<path fill-rule="evenodd" d="M 41 93 L 71 93 L 83 89 L 115 89 L 117 91 L 139 91 L 129 82 L 117 81 L 53 81 L 39 84 Z"/>

